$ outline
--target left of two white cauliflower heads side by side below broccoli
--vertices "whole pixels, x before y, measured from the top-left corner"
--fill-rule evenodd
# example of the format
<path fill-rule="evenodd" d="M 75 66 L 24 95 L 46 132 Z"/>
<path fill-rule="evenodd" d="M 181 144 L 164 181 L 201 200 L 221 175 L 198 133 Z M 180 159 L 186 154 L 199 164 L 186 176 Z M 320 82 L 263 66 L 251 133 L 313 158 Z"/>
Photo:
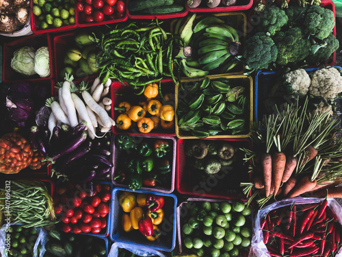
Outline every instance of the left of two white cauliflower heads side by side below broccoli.
<path fill-rule="evenodd" d="M 297 69 L 285 74 L 285 85 L 289 93 L 306 95 L 310 84 L 311 78 L 304 69 Z"/>

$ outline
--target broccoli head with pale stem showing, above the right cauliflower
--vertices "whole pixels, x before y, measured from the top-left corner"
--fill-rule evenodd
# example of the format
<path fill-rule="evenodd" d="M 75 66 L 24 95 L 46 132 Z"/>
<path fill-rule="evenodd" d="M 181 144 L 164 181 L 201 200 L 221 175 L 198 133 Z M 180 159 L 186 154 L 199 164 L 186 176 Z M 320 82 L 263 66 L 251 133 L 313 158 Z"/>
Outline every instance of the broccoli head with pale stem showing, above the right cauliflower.
<path fill-rule="evenodd" d="M 328 60 L 332 53 L 339 48 L 339 40 L 334 34 L 330 33 L 328 38 L 320 44 L 312 45 L 306 61 L 311 64 L 317 64 L 320 61 Z"/>

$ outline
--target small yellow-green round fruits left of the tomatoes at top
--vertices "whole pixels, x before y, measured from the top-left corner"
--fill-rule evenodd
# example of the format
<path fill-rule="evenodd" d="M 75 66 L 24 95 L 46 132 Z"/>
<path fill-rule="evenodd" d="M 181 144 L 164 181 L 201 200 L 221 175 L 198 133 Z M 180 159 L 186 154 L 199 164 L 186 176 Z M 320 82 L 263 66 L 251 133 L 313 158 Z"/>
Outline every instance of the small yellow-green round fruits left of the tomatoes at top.
<path fill-rule="evenodd" d="M 39 29 L 62 27 L 75 23 L 74 0 L 34 0 L 32 12 L 38 17 Z"/>

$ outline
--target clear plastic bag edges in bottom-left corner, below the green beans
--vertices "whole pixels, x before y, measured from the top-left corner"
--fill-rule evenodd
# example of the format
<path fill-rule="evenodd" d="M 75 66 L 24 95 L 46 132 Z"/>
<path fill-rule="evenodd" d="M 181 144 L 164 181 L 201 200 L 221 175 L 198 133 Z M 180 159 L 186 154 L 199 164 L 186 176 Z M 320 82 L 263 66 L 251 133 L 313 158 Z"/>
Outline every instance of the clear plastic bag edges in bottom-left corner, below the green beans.
<path fill-rule="evenodd" d="M 21 225 L 21 224 L 13 224 L 13 223 L 5 223 L 5 225 L 2 226 L 0 229 L 0 253 L 2 257 L 8 257 L 7 251 L 6 251 L 6 236 L 10 234 L 8 232 L 8 229 L 10 226 L 15 225 Z M 35 228 L 38 232 L 38 238 L 36 240 L 36 243 L 34 244 L 33 249 L 33 257 L 38 257 L 38 246 L 40 245 L 40 252 L 39 257 L 43 257 L 45 253 L 45 243 L 47 243 L 47 232 L 45 232 L 42 228 Z"/>

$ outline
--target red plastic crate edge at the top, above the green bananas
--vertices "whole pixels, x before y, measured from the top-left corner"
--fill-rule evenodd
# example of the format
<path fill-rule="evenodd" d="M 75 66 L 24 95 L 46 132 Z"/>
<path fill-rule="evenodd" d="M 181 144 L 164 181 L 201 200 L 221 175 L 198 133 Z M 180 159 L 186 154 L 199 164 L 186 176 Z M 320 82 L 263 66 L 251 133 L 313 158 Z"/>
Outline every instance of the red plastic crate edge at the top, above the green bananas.
<path fill-rule="evenodd" d="M 220 5 L 222 4 L 220 3 Z M 189 8 L 189 5 L 186 5 L 186 8 L 189 12 L 240 12 L 250 9 L 253 5 L 253 0 L 238 0 L 237 3 L 233 6 L 220 5 L 215 8 L 209 8 L 207 7 L 205 1 L 202 1 L 202 3 L 197 8 Z"/>

